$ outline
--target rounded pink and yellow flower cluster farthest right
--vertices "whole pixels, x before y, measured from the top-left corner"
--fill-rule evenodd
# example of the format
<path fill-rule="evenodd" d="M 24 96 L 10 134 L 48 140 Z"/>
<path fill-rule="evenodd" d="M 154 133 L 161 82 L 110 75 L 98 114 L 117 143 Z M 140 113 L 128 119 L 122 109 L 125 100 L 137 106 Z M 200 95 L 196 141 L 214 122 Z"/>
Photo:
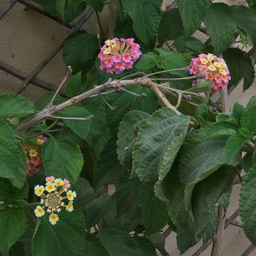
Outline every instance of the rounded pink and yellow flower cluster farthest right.
<path fill-rule="evenodd" d="M 206 74 L 205 80 L 209 80 L 213 83 L 212 93 L 224 90 L 228 87 L 230 75 L 227 64 L 223 58 L 218 58 L 211 53 L 207 55 L 200 54 L 197 58 L 191 59 L 189 66 L 191 67 L 189 69 L 190 74 Z M 199 79 L 194 80 L 192 86 L 194 86 L 198 80 Z"/>

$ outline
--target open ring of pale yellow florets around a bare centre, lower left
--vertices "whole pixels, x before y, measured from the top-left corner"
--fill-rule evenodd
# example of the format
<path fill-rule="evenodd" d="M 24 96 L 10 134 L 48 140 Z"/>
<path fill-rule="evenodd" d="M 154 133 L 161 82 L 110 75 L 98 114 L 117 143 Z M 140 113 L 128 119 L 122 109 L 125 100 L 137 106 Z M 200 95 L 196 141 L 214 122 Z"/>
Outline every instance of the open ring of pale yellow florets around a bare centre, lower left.
<path fill-rule="evenodd" d="M 34 210 L 35 216 L 41 217 L 44 215 L 44 208 L 51 215 L 49 216 L 49 222 L 52 225 L 55 225 L 59 220 L 59 217 L 54 212 L 60 212 L 61 207 L 66 208 L 66 211 L 72 212 L 73 209 L 73 200 L 76 197 L 75 191 L 68 190 L 70 187 L 69 181 L 60 178 L 55 179 L 54 176 L 49 176 L 45 178 L 45 186 L 35 186 L 35 195 L 41 196 L 41 204 L 44 204 L 42 207 L 40 205 Z M 45 192 L 45 193 L 44 193 Z M 48 192 L 48 193 L 46 193 Z M 66 192 L 66 196 L 62 197 L 61 194 Z M 68 199 L 68 204 L 65 204 L 63 200 Z"/>

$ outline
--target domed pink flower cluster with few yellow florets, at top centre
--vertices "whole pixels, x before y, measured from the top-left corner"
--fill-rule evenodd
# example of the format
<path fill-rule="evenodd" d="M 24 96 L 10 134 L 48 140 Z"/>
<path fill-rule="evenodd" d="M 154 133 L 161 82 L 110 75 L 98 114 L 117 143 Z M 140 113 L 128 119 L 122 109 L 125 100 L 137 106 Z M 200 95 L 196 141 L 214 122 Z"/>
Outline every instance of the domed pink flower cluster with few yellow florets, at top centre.
<path fill-rule="evenodd" d="M 125 69 L 131 69 L 141 55 L 140 45 L 133 41 L 133 38 L 106 40 L 98 55 L 100 69 L 110 74 L 120 74 Z"/>

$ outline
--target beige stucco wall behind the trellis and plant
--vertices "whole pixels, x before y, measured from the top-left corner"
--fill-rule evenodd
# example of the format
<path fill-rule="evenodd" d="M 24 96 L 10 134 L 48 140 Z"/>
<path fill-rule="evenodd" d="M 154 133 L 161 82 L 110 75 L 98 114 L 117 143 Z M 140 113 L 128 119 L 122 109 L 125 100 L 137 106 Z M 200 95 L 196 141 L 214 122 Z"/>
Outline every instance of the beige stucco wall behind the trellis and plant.
<path fill-rule="evenodd" d="M 0 0 L 0 9 L 8 2 L 9 0 Z M 239 1 L 229 0 L 228 2 L 230 4 Z M 23 11 L 23 9 L 24 5 L 16 3 L 11 11 L 0 20 L 0 59 L 17 69 L 30 73 L 58 42 L 62 40 L 69 29 L 33 10 Z M 107 8 L 105 8 L 105 13 L 101 15 L 101 19 L 103 25 L 107 26 Z M 95 14 L 93 14 L 83 28 L 89 33 L 97 33 L 96 24 L 97 19 Z M 200 33 L 197 36 L 200 37 Z M 58 86 L 65 74 L 66 66 L 62 61 L 61 50 L 37 77 Z M 19 79 L 0 70 L 1 93 L 14 92 L 20 83 L 21 81 Z M 242 93 L 241 88 L 242 85 L 239 85 L 229 96 L 230 108 L 232 108 L 234 102 L 240 102 L 246 105 L 248 99 L 252 95 L 256 95 L 255 83 L 245 93 Z M 35 102 L 44 93 L 46 93 L 46 90 L 30 84 L 22 95 Z M 238 208 L 239 191 L 240 185 L 235 185 L 231 196 L 230 207 L 227 211 L 227 217 Z M 190 248 L 184 255 L 192 255 L 201 244 L 202 242 Z M 230 225 L 225 230 L 221 255 L 240 256 L 250 244 L 241 228 Z M 171 233 L 167 238 L 166 248 L 171 256 L 179 255 L 174 233 Z M 210 252 L 211 246 L 201 255 L 209 256 Z M 250 255 L 256 256 L 256 250 Z"/>

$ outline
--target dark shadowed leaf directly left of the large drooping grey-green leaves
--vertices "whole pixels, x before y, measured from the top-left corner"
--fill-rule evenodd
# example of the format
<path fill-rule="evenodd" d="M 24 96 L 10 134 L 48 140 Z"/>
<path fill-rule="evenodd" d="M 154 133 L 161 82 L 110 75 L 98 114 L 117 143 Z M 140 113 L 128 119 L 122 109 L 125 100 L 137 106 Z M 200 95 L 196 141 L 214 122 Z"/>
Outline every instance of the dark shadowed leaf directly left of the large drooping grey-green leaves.
<path fill-rule="evenodd" d="M 94 187 L 98 189 L 104 184 L 117 182 L 125 173 L 117 159 L 116 142 L 110 141 L 103 148 L 100 158 L 97 159 L 94 166 Z"/>

